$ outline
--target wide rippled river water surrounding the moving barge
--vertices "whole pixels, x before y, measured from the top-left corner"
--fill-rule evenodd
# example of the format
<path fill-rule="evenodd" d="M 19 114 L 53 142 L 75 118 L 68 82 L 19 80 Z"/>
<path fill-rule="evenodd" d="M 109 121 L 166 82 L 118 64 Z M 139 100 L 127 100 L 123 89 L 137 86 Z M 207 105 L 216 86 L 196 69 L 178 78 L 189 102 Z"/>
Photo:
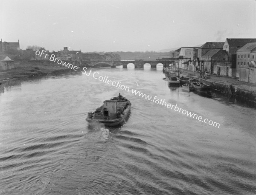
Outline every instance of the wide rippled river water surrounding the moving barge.
<path fill-rule="evenodd" d="M 161 68 L 96 71 L 220 127 L 92 74 L 20 82 L 0 92 L 0 194 L 256 194 L 255 108 L 169 88 Z M 89 127 L 87 113 L 119 93 L 128 122 Z"/>

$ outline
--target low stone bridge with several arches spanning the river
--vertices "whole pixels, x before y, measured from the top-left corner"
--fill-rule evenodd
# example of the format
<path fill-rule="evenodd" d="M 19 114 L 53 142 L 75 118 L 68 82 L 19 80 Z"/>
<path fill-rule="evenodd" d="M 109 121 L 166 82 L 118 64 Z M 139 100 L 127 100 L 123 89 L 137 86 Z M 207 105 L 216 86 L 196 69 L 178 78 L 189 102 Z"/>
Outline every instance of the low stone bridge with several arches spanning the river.
<path fill-rule="evenodd" d="M 123 68 L 127 68 L 127 65 L 129 63 L 134 64 L 134 68 L 143 68 L 145 64 L 150 64 L 151 68 L 157 68 L 157 64 L 162 63 L 163 66 L 166 66 L 166 61 L 157 61 L 157 60 L 119 60 L 119 61 L 111 61 L 111 60 L 88 60 L 88 61 L 82 61 L 80 62 L 81 66 L 85 66 L 87 68 L 102 68 L 102 67 L 111 67 L 116 68 L 116 66 L 122 65 Z"/>

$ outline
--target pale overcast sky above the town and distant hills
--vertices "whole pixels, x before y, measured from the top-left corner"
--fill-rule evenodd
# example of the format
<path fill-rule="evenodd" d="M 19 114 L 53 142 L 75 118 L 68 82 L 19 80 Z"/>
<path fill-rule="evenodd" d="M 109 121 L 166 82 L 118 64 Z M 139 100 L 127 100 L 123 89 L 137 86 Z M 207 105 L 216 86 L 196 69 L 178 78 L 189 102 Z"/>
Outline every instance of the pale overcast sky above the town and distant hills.
<path fill-rule="evenodd" d="M 256 0 L 0 0 L 0 38 L 82 52 L 256 38 Z"/>

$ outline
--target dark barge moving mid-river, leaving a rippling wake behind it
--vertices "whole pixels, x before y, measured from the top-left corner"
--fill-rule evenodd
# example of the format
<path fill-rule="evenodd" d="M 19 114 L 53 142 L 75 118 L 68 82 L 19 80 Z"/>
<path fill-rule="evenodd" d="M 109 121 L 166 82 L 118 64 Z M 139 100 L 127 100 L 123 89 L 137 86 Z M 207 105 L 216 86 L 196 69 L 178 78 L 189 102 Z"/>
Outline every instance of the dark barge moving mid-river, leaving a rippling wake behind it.
<path fill-rule="evenodd" d="M 130 110 L 131 102 L 119 93 L 119 96 L 105 100 L 94 112 L 89 112 L 86 121 L 91 126 L 113 127 L 125 123 Z"/>

